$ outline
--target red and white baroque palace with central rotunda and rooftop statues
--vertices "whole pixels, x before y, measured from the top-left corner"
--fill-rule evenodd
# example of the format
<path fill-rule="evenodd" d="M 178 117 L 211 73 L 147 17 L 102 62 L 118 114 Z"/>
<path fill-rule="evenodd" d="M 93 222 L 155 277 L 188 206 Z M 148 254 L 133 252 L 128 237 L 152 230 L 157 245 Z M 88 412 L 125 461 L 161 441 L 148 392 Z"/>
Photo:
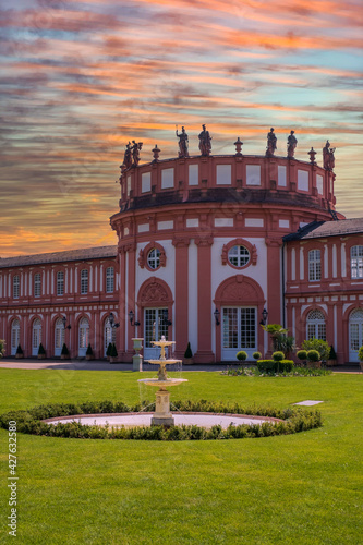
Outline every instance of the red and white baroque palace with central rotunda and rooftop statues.
<path fill-rule="evenodd" d="M 19 344 L 36 355 L 72 358 L 90 343 L 105 358 L 114 340 L 130 362 L 134 337 L 144 359 L 150 341 L 176 340 L 176 356 L 191 343 L 195 363 L 235 361 L 239 350 L 264 355 L 270 340 L 261 323 L 281 324 L 298 346 L 317 337 L 338 363 L 358 362 L 363 344 L 363 218 L 336 211 L 334 149 L 324 166 L 308 152 L 275 155 L 275 133 L 263 156 L 213 155 L 206 128 L 201 155 L 187 135 L 179 157 L 140 164 L 142 143 L 128 144 L 118 244 L 0 259 L 0 337 L 7 353 Z M 275 140 L 274 140 L 275 138 Z M 70 327 L 69 327 L 70 326 Z M 119 327 L 116 327 L 119 326 Z"/>

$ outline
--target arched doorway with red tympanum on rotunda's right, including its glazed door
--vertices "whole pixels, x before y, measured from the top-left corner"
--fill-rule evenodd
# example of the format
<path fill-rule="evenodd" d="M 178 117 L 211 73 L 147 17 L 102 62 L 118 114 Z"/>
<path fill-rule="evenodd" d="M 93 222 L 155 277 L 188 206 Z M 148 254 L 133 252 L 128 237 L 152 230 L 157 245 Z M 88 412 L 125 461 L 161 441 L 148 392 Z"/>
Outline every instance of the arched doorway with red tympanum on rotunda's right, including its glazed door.
<path fill-rule="evenodd" d="M 220 325 L 216 325 L 216 356 L 235 361 L 240 350 L 249 360 L 256 350 L 264 351 L 263 331 L 258 328 L 265 298 L 259 284 L 252 278 L 235 275 L 216 291 L 215 304 L 220 307 Z"/>

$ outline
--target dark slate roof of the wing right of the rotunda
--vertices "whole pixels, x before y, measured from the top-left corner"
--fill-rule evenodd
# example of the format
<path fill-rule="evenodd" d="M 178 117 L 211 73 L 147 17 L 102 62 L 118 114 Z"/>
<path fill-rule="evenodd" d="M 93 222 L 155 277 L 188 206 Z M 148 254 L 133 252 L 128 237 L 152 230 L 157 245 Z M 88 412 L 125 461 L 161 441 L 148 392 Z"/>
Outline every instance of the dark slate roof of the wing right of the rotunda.
<path fill-rule="evenodd" d="M 312 221 L 297 232 L 286 234 L 283 241 L 344 237 L 363 233 L 363 218 L 341 219 L 339 221 Z"/>

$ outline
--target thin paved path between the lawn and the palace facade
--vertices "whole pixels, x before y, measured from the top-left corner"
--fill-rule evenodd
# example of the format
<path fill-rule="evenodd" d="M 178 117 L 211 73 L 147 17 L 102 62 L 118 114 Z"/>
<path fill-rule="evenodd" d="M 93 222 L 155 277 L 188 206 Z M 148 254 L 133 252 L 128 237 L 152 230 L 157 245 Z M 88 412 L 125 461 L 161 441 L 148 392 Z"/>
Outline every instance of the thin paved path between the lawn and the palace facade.
<path fill-rule="evenodd" d="M 195 365 L 168 365 L 168 371 L 217 371 L 221 372 L 227 367 L 240 367 L 239 363 L 213 363 L 213 364 L 195 364 Z M 14 358 L 3 358 L 0 360 L 0 368 L 13 370 L 81 370 L 81 371 L 132 371 L 131 363 L 109 363 L 105 360 L 37 360 L 34 358 L 15 360 Z M 157 366 L 144 363 L 143 371 L 155 371 Z M 360 366 L 356 365 L 339 365 L 330 367 L 334 372 L 339 373 L 361 373 Z"/>

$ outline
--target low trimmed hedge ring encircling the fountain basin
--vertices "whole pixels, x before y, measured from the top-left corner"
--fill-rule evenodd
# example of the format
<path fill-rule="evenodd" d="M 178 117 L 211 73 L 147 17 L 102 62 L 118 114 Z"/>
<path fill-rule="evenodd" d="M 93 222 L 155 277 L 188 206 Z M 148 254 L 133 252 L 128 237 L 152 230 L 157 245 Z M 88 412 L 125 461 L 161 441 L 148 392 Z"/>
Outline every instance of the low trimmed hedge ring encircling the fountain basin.
<path fill-rule="evenodd" d="M 87 426 L 78 422 L 66 424 L 48 424 L 41 420 L 73 414 L 122 413 L 140 412 L 145 405 L 128 407 L 122 402 L 89 401 L 86 403 L 40 405 L 28 411 L 12 411 L 0 416 L 1 427 L 8 429 L 9 422 L 16 421 L 20 433 L 43 435 L 49 437 L 72 437 L 82 439 L 138 439 L 138 440 L 205 440 L 205 439 L 242 439 L 253 437 L 268 437 L 273 435 L 289 435 L 320 427 L 322 415 L 316 410 L 301 408 L 274 409 L 262 407 L 240 407 L 238 403 L 227 404 L 213 401 L 176 401 L 173 407 L 179 411 L 213 412 L 228 414 L 250 414 L 281 419 L 277 422 L 263 424 L 231 424 L 227 429 L 213 426 L 210 429 L 193 426 L 164 426 L 117 428 L 111 426 Z M 155 410 L 154 404 L 149 408 Z"/>

